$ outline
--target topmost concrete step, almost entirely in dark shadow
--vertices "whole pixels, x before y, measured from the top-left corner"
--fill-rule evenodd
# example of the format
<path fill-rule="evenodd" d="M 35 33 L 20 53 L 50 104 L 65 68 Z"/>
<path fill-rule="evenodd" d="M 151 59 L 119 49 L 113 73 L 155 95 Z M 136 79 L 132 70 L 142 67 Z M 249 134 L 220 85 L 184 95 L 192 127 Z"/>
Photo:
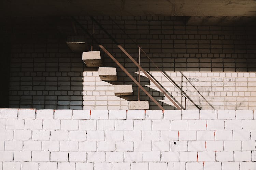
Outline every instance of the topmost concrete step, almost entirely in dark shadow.
<path fill-rule="evenodd" d="M 73 52 L 88 50 L 88 44 L 84 36 L 68 36 L 67 45 Z"/>

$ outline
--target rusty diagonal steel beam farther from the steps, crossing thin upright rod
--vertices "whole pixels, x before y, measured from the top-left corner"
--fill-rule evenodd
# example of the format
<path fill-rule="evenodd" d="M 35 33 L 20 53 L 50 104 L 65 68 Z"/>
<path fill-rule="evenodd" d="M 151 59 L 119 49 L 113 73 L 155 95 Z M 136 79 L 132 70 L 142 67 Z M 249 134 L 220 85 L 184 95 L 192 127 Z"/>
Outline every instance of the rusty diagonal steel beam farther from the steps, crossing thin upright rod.
<path fill-rule="evenodd" d="M 155 85 L 156 87 L 178 108 L 181 110 L 181 107 L 171 98 L 171 96 L 169 96 L 167 94 L 167 92 L 165 92 L 165 90 L 162 89 L 162 87 L 160 87 L 158 85 L 158 83 L 133 59 L 133 57 L 120 45 L 118 45 L 118 47 L 127 55 L 127 57 L 129 57 L 131 59 L 131 61 L 146 75 L 146 77 L 148 79 L 150 79 Z"/>

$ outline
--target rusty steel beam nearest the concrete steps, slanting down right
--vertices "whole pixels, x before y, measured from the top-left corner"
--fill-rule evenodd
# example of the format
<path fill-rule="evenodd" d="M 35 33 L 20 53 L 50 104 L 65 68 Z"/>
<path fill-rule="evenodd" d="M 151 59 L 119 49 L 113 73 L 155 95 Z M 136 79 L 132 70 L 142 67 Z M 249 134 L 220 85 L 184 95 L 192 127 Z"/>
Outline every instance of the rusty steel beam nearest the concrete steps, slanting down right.
<path fill-rule="evenodd" d="M 115 59 L 115 57 L 113 55 L 111 55 L 108 50 L 106 50 L 102 45 L 99 45 L 99 47 L 106 53 L 108 54 L 108 56 L 131 78 L 131 80 L 136 83 L 141 89 L 142 91 L 145 92 L 145 94 L 151 99 L 153 100 L 153 102 L 156 103 L 156 105 L 161 109 L 164 110 L 163 107 L 147 92 L 147 90 L 145 90 L 144 87 L 142 87 L 139 82 L 137 80 L 135 80 L 132 75 Z"/>

